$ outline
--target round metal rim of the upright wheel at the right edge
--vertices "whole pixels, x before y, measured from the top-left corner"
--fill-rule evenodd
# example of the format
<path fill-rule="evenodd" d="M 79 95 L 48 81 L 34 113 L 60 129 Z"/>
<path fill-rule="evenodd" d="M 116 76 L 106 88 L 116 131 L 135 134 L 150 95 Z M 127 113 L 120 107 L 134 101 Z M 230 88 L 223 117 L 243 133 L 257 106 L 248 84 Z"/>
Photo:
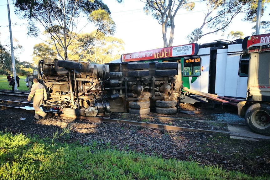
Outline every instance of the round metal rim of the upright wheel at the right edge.
<path fill-rule="evenodd" d="M 266 111 L 255 111 L 251 116 L 252 124 L 259 129 L 266 129 L 270 126 L 270 115 Z"/>

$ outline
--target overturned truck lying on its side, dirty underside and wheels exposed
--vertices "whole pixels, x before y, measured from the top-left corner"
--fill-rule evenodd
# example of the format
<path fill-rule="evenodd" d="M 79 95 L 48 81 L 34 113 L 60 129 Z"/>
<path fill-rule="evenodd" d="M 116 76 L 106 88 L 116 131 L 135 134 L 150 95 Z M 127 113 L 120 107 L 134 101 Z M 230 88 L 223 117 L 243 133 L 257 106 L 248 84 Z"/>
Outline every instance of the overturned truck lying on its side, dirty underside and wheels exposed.
<path fill-rule="evenodd" d="M 174 114 L 180 95 L 177 62 L 90 64 L 57 59 L 39 61 L 39 80 L 47 89 L 46 105 L 64 114 L 89 116 L 109 112 Z"/>

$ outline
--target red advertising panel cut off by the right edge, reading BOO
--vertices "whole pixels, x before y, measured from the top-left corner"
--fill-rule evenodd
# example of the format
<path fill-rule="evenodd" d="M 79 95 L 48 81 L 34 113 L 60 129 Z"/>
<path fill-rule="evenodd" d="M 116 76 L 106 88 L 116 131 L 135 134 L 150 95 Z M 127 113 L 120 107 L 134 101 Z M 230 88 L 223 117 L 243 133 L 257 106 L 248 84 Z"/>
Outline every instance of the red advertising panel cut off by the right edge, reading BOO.
<path fill-rule="evenodd" d="M 270 34 L 259 34 L 255 36 L 247 36 L 242 43 L 243 49 L 248 49 L 249 46 L 258 43 L 270 43 Z"/>

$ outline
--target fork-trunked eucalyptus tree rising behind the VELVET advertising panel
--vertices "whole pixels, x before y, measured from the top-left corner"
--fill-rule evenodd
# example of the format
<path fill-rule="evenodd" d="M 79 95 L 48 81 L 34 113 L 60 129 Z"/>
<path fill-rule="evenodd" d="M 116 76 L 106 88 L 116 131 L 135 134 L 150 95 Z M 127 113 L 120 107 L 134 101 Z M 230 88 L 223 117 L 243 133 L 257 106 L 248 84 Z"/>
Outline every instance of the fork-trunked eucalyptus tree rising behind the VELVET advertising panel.
<path fill-rule="evenodd" d="M 148 15 L 151 14 L 161 24 L 163 35 L 163 47 L 172 46 L 174 40 L 174 18 L 180 8 L 191 11 L 195 6 L 194 2 L 188 3 L 188 0 L 146 0 L 143 8 Z M 167 40 L 167 28 L 170 28 L 169 43 Z"/>

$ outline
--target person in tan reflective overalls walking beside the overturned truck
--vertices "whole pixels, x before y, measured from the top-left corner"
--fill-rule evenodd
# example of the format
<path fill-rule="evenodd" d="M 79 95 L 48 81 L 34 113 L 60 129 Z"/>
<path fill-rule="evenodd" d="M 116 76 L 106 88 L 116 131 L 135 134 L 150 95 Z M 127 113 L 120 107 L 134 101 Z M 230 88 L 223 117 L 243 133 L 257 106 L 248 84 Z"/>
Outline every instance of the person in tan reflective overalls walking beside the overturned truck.
<path fill-rule="evenodd" d="M 37 78 L 33 79 L 34 84 L 32 85 L 32 89 L 30 94 L 28 95 L 27 100 L 30 101 L 33 96 L 34 96 L 34 100 L 33 100 L 33 107 L 35 110 L 35 119 L 39 119 L 39 116 L 42 116 L 42 119 L 45 119 L 47 116 L 47 113 L 45 113 L 44 111 L 42 111 L 40 109 L 40 105 L 42 104 L 43 100 L 47 100 L 47 93 L 46 93 L 46 89 L 45 87 L 39 83 Z"/>

